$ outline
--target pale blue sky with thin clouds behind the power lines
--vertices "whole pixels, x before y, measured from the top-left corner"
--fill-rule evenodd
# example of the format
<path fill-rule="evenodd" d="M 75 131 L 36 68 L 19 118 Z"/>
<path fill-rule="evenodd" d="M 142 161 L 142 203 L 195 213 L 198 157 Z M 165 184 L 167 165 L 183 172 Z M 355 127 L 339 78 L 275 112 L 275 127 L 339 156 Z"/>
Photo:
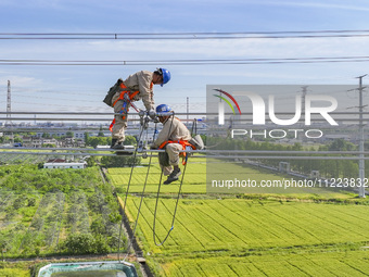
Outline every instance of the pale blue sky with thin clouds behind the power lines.
<path fill-rule="evenodd" d="M 1 0 L 0 33 L 203 33 L 365 30 L 368 1 L 116 1 Z M 188 60 L 369 55 L 369 38 L 254 38 L 198 40 L 1 40 L 0 60 Z M 0 111 L 7 80 L 12 111 L 111 112 L 101 100 L 119 77 L 153 65 L 29 66 L 0 64 Z M 347 84 L 367 62 L 171 65 L 155 102 L 204 112 L 206 85 Z M 368 77 L 369 80 L 369 77 Z M 364 79 L 366 81 L 366 79 Z M 368 81 L 367 81 L 368 83 Z M 342 97 L 345 97 L 343 95 Z M 354 99 L 351 98 L 351 99 Z M 356 101 L 355 99 L 353 101 Z"/>

